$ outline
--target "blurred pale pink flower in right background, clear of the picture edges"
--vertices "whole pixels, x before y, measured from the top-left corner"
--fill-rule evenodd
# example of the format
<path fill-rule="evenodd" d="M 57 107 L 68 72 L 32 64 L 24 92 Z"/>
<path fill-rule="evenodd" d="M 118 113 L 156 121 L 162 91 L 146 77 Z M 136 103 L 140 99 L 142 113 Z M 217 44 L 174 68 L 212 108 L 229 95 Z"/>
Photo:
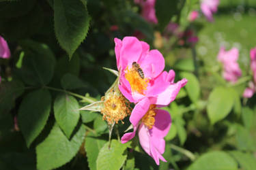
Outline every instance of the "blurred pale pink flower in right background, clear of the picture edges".
<path fill-rule="evenodd" d="M 236 82 L 238 77 L 242 75 L 242 71 L 238 65 L 239 51 L 237 48 L 232 48 L 225 51 L 224 47 L 218 52 L 218 61 L 223 63 L 223 78 L 228 82 Z"/>

